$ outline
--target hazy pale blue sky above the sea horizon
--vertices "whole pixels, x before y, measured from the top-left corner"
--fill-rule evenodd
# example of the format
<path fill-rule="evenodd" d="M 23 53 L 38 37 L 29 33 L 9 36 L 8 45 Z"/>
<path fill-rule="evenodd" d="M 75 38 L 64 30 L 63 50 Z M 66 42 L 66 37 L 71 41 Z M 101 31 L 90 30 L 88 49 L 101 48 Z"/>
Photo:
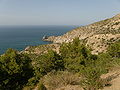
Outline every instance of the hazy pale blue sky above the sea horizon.
<path fill-rule="evenodd" d="M 0 25 L 86 25 L 120 13 L 120 0 L 0 0 Z"/>

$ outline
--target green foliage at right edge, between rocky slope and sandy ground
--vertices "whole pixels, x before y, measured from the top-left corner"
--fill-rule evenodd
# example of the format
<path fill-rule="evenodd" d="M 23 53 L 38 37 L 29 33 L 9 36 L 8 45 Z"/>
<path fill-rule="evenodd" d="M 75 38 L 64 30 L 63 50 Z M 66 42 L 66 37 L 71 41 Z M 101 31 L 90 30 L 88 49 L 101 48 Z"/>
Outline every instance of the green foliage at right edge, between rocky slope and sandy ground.
<path fill-rule="evenodd" d="M 98 55 L 98 60 L 96 61 L 99 67 L 104 68 L 104 72 L 112 69 L 113 67 L 120 66 L 120 42 L 111 44 L 108 47 L 106 53 Z"/>

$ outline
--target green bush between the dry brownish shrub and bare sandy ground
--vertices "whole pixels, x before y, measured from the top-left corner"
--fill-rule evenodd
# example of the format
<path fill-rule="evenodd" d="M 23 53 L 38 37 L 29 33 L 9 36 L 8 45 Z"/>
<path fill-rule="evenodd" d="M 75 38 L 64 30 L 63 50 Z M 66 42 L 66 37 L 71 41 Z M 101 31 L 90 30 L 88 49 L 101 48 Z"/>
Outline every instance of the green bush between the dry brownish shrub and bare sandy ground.
<path fill-rule="evenodd" d="M 100 76 L 103 74 L 104 68 L 100 66 L 96 61 L 89 61 L 89 64 L 80 72 L 82 76 L 81 85 L 85 90 L 98 90 L 103 87 Z"/>

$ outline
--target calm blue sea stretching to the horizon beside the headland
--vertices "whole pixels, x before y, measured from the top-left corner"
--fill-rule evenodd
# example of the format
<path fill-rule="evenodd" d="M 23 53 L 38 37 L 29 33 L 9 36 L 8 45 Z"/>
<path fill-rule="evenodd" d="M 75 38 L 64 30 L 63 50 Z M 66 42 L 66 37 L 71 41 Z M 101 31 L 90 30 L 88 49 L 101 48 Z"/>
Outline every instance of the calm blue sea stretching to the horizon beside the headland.
<path fill-rule="evenodd" d="M 42 41 L 42 37 L 62 35 L 74 28 L 74 26 L 0 26 L 0 54 L 8 48 L 21 51 L 27 46 L 50 43 Z"/>

